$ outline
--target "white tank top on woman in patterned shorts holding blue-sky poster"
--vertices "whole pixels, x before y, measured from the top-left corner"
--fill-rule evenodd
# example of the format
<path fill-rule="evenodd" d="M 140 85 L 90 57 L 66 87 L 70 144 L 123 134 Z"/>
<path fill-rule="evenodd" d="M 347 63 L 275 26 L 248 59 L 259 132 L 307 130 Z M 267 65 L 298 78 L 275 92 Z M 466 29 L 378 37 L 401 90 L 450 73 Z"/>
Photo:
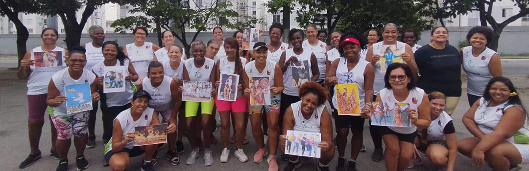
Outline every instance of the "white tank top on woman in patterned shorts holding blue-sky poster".
<path fill-rule="evenodd" d="M 55 84 L 55 88 L 57 88 L 57 90 L 59 90 L 60 92 L 60 95 L 65 95 L 66 92 L 65 92 L 65 86 L 66 85 L 70 85 L 70 84 L 78 84 L 78 83 L 85 83 L 85 82 L 88 82 L 89 84 L 92 84 L 92 82 L 94 82 L 94 80 L 96 79 L 96 75 L 94 75 L 94 73 L 86 70 L 86 69 L 83 69 L 83 74 L 81 74 L 81 77 L 79 77 L 79 79 L 77 80 L 74 80 L 70 77 L 70 74 L 68 72 L 68 67 L 65 68 L 65 69 L 62 69 L 58 72 L 56 72 L 55 74 L 53 74 L 53 76 L 51 77 L 51 79 L 53 80 L 53 83 Z M 90 93 L 92 94 L 92 93 Z M 83 112 L 90 112 L 90 111 L 83 111 Z M 79 112 L 81 113 L 81 112 Z M 54 107 L 53 108 L 53 116 L 72 116 L 72 115 L 75 115 L 76 113 L 70 113 L 68 114 L 67 111 L 66 111 L 66 101 L 65 102 L 62 102 L 61 105 L 59 105 L 58 107 Z"/>

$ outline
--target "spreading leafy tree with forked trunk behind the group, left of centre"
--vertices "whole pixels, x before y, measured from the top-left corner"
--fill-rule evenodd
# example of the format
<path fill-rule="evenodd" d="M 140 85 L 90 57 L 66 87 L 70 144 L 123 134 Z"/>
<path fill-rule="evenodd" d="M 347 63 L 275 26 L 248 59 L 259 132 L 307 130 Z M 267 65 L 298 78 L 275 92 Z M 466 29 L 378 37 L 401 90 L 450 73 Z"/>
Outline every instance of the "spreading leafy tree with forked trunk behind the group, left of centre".
<path fill-rule="evenodd" d="M 213 29 L 213 26 L 225 26 L 230 29 L 243 29 L 253 27 L 253 24 L 262 22 L 250 16 L 241 16 L 237 11 L 231 9 L 230 2 L 211 0 L 211 3 L 197 3 L 193 0 L 171 1 L 171 0 L 135 0 L 131 3 L 131 13 L 143 13 L 140 16 L 127 16 L 120 18 L 111 26 L 116 27 L 115 32 L 132 30 L 136 26 L 144 26 L 154 32 L 160 33 L 160 29 L 170 30 L 186 49 L 187 56 L 190 52 L 190 44 L 195 41 L 198 34 Z M 195 7 L 191 7 L 193 4 Z M 239 21 L 243 20 L 243 21 Z M 159 28 L 152 28 L 154 23 Z M 187 39 L 187 29 L 195 29 L 191 40 Z"/>

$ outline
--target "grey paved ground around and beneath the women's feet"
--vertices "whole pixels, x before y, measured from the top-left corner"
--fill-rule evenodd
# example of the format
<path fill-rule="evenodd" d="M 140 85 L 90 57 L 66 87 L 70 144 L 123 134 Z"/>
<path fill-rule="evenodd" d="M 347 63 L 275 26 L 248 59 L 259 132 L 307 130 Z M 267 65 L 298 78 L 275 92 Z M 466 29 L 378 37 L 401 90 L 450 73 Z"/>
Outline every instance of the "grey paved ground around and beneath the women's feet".
<path fill-rule="evenodd" d="M 527 74 L 527 62 L 528 60 L 523 61 L 513 61 L 515 65 L 509 65 L 510 62 L 504 62 L 503 68 L 507 77 L 511 78 L 518 89 L 520 89 L 522 99 L 524 104 L 529 105 L 529 74 Z M 15 61 L 16 62 L 16 61 Z M 524 66 L 522 62 L 526 63 Z M 0 60 L 0 66 L 4 67 L 5 65 L 3 60 Z M 513 69 L 515 74 L 510 73 L 510 66 L 518 66 L 516 69 Z M 9 67 L 9 66 L 7 66 Z M 517 75 L 517 71 L 525 72 L 525 74 Z M 0 165 L 3 166 L 0 170 L 20 170 L 18 165 L 26 155 L 29 153 L 29 143 L 28 143 L 28 134 L 27 134 L 27 101 L 26 96 L 26 87 L 25 81 L 19 80 L 16 78 L 16 70 L 6 70 L 0 69 Z M 466 85 L 466 83 L 463 83 Z M 463 91 L 465 88 L 463 86 Z M 466 94 L 466 92 L 463 92 Z M 453 119 L 454 125 L 457 130 L 458 139 L 471 137 L 470 133 L 463 126 L 461 122 L 461 116 L 464 112 L 468 110 L 469 106 L 467 103 L 466 96 L 461 97 L 458 107 L 456 108 Z M 100 161 L 103 156 L 103 146 L 102 139 L 102 122 L 101 122 L 101 112 L 97 113 L 97 125 L 96 125 L 96 134 L 97 138 L 97 147 L 93 149 L 87 149 L 85 151 L 85 156 L 90 162 L 90 167 L 88 170 L 110 170 L 108 167 L 102 167 Z M 366 153 L 361 153 L 358 158 L 357 168 L 359 170 L 385 170 L 384 162 L 376 163 L 372 162 L 370 159 L 372 152 L 372 141 L 369 135 L 367 123 L 364 125 L 366 131 L 364 131 L 364 145 L 367 147 Z M 195 165 L 185 165 L 180 164 L 178 166 L 170 165 L 167 160 L 161 159 L 158 165 L 156 166 L 157 170 L 267 170 L 268 164 L 261 163 L 256 164 L 251 162 L 253 158 L 253 153 L 257 150 L 257 146 L 253 141 L 251 131 L 248 129 L 248 136 L 250 137 L 250 144 L 244 145 L 243 148 L 249 156 L 250 162 L 241 163 L 234 156 L 233 152 L 230 156 L 230 162 L 222 164 L 219 162 L 220 153 L 222 145 L 216 144 L 212 146 L 213 155 L 215 158 L 215 164 L 210 167 L 205 167 L 203 165 L 203 154 L 200 154 L 200 157 L 197 159 Z M 220 131 L 214 132 L 214 135 L 217 138 L 220 138 Z M 186 146 L 186 153 L 180 155 L 181 160 L 185 161 L 186 156 L 189 154 L 190 147 L 188 141 L 184 141 Z M 46 123 L 43 128 L 42 137 L 41 137 L 41 151 L 43 154 L 47 154 L 51 146 L 50 143 L 50 126 L 49 121 L 46 120 Z M 233 149 L 234 146 L 230 145 L 230 148 Z M 350 150 L 350 145 L 346 148 L 346 151 Z M 165 154 L 166 149 L 162 150 L 161 154 Z M 338 153 L 337 153 L 338 154 Z M 334 170 L 336 167 L 336 157 L 331 162 L 330 167 Z M 70 170 L 75 170 L 75 148 L 70 148 L 69 158 L 70 158 Z M 129 170 L 139 170 L 141 166 L 142 157 L 136 157 L 131 159 L 132 165 L 129 167 Z M 26 170 L 54 170 L 58 164 L 58 160 L 53 159 L 51 156 L 44 155 L 38 162 L 27 168 Z M 279 162 L 279 167 L 282 169 L 286 165 L 285 162 Z M 317 170 L 317 160 L 311 159 L 307 162 L 304 162 L 303 166 L 298 170 Z M 435 170 L 430 163 L 425 165 L 416 166 L 413 169 L 409 170 Z M 524 166 L 524 170 L 529 170 L 529 166 Z M 473 167 L 470 165 L 470 159 L 462 155 L 458 155 L 458 160 L 456 163 L 456 170 L 491 170 L 490 167 Z"/>

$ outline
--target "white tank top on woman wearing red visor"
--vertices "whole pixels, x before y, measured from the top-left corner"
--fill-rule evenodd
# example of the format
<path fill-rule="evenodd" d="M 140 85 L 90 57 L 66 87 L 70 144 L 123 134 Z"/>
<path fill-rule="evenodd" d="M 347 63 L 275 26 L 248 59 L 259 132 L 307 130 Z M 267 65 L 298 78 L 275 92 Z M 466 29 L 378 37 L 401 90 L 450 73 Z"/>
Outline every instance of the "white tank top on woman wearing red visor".
<path fill-rule="evenodd" d="M 366 105 L 364 102 L 364 97 L 366 97 L 366 90 L 364 89 L 364 71 L 366 66 L 370 64 L 366 60 L 358 60 L 357 65 L 353 69 L 349 70 L 347 67 L 347 59 L 340 58 L 338 67 L 336 68 L 336 78 L 338 78 L 338 84 L 350 84 L 355 83 L 358 87 L 358 96 L 360 98 L 360 110 Z M 332 96 L 332 104 L 335 109 L 338 109 L 336 102 L 336 94 Z"/>

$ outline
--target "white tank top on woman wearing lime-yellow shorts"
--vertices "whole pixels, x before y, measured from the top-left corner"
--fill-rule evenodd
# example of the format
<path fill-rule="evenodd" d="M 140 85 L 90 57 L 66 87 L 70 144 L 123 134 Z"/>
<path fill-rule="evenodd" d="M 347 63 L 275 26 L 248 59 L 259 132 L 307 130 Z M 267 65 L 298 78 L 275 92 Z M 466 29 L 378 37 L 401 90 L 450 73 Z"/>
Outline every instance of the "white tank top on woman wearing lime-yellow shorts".
<path fill-rule="evenodd" d="M 189 58 L 184 61 L 190 81 L 209 81 L 209 75 L 213 71 L 215 62 L 209 58 L 205 58 L 205 60 L 200 68 L 195 67 L 195 58 Z"/>

